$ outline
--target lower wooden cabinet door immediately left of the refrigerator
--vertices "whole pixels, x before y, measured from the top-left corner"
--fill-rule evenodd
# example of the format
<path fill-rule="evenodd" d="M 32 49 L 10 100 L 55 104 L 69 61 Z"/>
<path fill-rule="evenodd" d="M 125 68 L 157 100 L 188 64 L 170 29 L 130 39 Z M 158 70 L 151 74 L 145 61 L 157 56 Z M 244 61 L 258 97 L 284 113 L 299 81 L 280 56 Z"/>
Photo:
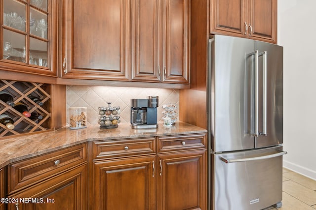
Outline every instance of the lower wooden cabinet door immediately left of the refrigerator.
<path fill-rule="evenodd" d="M 157 210 L 206 210 L 206 150 L 159 154 Z"/>

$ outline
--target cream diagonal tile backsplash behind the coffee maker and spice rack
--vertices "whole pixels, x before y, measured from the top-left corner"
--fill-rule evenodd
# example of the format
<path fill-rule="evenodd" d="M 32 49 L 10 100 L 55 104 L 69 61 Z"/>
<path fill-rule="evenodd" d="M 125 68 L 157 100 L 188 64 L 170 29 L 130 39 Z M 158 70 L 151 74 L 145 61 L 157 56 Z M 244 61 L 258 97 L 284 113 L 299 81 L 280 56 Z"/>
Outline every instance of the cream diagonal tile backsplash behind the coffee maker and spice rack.
<path fill-rule="evenodd" d="M 159 88 L 127 88 L 107 86 L 67 86 L 67 124 L 69 124 L 70 107 L 87 107 L 88 124 L 98 124 L 98 107 L 119 106 L 121 122 L 130 121 L 130 99 L 147 98 L 149 95 L 159 96 L 158 120 L 163 117 L 162 105 L 175 104 L 179 107 L 179 90 Z M 178 116 L 176 116 L 178 117 Z"/>

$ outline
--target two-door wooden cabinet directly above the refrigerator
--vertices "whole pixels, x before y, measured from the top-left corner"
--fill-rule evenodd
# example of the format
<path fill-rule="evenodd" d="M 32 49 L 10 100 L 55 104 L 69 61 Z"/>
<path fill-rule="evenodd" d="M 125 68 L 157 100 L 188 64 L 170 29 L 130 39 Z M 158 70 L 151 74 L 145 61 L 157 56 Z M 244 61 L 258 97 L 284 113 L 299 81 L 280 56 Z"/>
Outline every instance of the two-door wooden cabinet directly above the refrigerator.
<path fill-rule="evenodd" d="M 210 33 L 276 43 L 276 0 L 211 0 Z"/>

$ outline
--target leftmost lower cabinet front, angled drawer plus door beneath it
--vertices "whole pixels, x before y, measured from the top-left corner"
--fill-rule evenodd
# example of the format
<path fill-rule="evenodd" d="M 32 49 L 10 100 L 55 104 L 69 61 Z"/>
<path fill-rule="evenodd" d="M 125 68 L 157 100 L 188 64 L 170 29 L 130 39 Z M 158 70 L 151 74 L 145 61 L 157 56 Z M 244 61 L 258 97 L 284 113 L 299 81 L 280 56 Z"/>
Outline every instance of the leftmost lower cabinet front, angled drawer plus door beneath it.
<path fill-rule="evenodd" d="M 87 209 L 86 144 L 8 166 L 9 210 Z M 24 200 L 27 199 L 27 200 Z"/>

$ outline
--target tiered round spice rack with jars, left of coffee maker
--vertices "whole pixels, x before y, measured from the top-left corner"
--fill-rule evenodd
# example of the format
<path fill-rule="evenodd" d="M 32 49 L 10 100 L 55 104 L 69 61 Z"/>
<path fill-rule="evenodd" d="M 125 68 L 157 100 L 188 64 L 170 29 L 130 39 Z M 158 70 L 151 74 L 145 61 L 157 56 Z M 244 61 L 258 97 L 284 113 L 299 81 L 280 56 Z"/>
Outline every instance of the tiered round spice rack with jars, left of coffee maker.
<path fill-rule="evenodd" d="M 111 102 L 108 102 L 108 107 L 99 107 L 98 123 L 100 128 L 116 128 L 118 127 L 120 109 L 119 107 L 111 107 Z"/>

